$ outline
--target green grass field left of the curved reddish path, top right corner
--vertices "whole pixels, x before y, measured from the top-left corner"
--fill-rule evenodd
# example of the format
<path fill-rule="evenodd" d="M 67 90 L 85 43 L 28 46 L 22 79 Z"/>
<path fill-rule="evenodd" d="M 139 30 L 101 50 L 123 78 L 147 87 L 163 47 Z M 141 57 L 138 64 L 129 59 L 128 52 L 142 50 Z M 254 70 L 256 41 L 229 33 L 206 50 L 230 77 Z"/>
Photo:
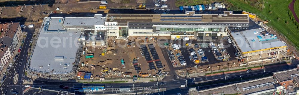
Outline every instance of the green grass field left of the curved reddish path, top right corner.
<path fill-rule="evenodd" d="M 292 0 L 265 0 L 265 8 L 263 10 L 259 10 L 255 7 L 245 4 L 240 0 L 227 1 L 241 7 L 241 9 L 243 9 L 244 11 L 256 14 L 258 18 L 270 21 L 270 26 L 274 27 L 275 29 L 277 29 L 277 31 L 284 34 L 291 42 L 299 47 L 299 32 L 297 26 L 289 17 L 289 13 L 291 12 L 288 9 L 288 6 Z"/>

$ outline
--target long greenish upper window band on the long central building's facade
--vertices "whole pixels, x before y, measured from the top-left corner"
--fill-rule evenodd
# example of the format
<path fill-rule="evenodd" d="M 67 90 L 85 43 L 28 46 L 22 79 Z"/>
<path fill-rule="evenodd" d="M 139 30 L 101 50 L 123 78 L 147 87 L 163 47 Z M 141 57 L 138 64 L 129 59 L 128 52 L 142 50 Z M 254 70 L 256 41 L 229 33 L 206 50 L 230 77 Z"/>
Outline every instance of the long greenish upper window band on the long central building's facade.
<path fill-rule="evenodd" d="M 160 31 L 221 31 L 221 28 L 160 28 Z"/>

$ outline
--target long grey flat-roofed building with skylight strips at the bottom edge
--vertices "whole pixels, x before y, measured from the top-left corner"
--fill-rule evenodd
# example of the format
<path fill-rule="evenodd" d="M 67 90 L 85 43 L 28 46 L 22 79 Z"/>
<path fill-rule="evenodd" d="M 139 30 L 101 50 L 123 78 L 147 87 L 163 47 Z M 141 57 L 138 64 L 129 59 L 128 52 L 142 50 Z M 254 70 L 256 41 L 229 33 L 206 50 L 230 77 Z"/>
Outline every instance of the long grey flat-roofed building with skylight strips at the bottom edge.
<path fill-rule="evenodd" d="M 273 95 L 276 91 L 276 84 L 272 77 L 265 77 L 256 80 L 245 81 L 241 83 L 225 85 L 216 88 L 209 88 L 199 91 L 200 95 L 225 95 L 225 94 L 242 94 L 242 95 Z"/>

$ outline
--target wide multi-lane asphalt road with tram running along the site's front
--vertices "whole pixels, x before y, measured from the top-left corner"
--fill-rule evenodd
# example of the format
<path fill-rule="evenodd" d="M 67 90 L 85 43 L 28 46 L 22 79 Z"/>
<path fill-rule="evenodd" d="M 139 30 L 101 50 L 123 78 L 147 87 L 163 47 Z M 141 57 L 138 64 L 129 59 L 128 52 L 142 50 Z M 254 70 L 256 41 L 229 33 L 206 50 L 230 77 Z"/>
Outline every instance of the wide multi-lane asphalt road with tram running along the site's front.
<path fill-rule="evenodd" d="M 293 65 L 278 64 L 278 65 L 274 65 L 274 66 L 265 66 L 265 68 L 266 68 L 265 74 L 269 75 L 269 74 L 272 74 L 272 72 L 296 68 L 296 64 L 293 64 Z M 263 69 L 257 69 L 257 70 L 253 70 L 253 72 L 251 72 L 251 73 L 247 73 L 246 71 L 244 71 L 244 72 L 234 72 L 234 73 L 228 73 L 228 74 L 224 73 L 224 74 L 213 75 L 213 76 L 199 76 L 199 77 L 187 78 L 187 83 L 188 84 L 199 83 L 199 89 L 202 90 L 202 89 L 218 87 L 221 85 L 231 84 L 231 83 L 222 83 L 220 85 L 219 84 L 213 85 L 213 83 L 225 80 L 224 75 L 227 76 L 226 80 L 235 80 L 235 79 L 241 80 L 240 76 L 242 77 L 242 79 L 246 79 L 248 77 L 253 77 L 253 76 L 263 76 L 263 73 L 264 73 Z M 183 78 L 174 78 L 174 77 L 176 77 L 176 76 L 167 76 L 163 80 L 158 81 L 158 82 L 152 81 L 152 82 L 134 83 L 134 88 L 136 88 L 137 91 L 142 90 L 143 88 L 154 89 L 154 88 L 157 88 L 157 83 L 159 84 L 159 83 L 163 82 L 163 83 L 165 83 L 165 85 L 161 85 L 161 86 L 159 86 L 159 88 L 166 88 L 167 91 L 164 91 L 164 93 L 167 93 L 167 95 L 177 94 L 177 93 L 187 94 L 188 89 L 180 89 L 181 84 L 186 83 L 186 79 L 184 77 Z M 248 79 L 248 80 L 252 80 L 252 79 Z M 38 88 L 42 84 L 45 84 L 46 85 L 45 89 L 51 89 L 51 90 L 63 90 L 62 88 L 59 88 L 60 84 L 64 84 L 65 86 L 104 85 L 105 89 L 106 89 L 106 91 L 105 91 L 106 94 L 108 94 L 109 91 L 111 93 L 112 90 L 116 92 L 122 86 L 128 86 L 128 87 L 131 87 L 131 89 L 133 88 L 133 83 L 92 84 L 92 83 L 65 83 L 65 82 L 50 83 L 50 82 L 41 82 L 41 81 L 36 81 L 36 83 L 37 84 L 33 85 L 33 87 Z M 210 83 L 210 85 L 208 85 L 208 86 L 201 85 L 201 83 Z M 103 94 L 103 91 L 94 92 L 94 94 Z M 158 93 L 155 93 L 155 94 L 158 94 Z"/>

